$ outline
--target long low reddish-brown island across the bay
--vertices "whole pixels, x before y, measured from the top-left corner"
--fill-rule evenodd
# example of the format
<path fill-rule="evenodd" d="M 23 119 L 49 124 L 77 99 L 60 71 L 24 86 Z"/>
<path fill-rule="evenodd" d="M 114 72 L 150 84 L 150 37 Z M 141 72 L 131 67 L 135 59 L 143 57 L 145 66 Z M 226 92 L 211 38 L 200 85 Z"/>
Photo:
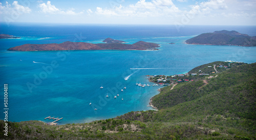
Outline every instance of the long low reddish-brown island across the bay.
<path fill-rule="evenodd" d="M 107 41 L 113 39 L 106 39 Z M 114 40 L 113 42 L 120 42 Z M 124 42 L 124 41 L 123 41 Z M 47 50 L 102 50 L 102 49 L 117 49 L 117 50 L 157 50 L 159 44 L 139 41 L 134 44 L 123 43 L 85 43 L 85 42 L 63 42 L 60 44 L 24 44 L 9 48 L 8 50 L 16 51 L 47 51 Z"/>

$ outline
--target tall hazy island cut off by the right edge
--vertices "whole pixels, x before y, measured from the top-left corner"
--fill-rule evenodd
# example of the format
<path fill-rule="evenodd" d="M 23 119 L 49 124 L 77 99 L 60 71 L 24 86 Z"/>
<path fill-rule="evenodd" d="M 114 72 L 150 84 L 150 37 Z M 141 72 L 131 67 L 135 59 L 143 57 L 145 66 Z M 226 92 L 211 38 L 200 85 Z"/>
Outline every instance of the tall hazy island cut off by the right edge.
<path fill-rule="evenodd" d="M 198 45 L 233 45 L 233 46 L 256 46 L 256 36 L 251 37 L 237 31 L 215 31 L 204 33 L 185 41 L 187 44 Z"/>

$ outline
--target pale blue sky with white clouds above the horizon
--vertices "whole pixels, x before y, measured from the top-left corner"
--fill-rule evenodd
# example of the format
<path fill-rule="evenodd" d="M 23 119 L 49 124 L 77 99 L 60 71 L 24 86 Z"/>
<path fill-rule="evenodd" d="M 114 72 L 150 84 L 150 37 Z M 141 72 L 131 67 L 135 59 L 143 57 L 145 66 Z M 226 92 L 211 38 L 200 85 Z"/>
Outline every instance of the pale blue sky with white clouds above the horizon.
<path fill-rule="evenodd" d="M 256 0 L 0 0 L 0 22 L 256 25 Z"/>

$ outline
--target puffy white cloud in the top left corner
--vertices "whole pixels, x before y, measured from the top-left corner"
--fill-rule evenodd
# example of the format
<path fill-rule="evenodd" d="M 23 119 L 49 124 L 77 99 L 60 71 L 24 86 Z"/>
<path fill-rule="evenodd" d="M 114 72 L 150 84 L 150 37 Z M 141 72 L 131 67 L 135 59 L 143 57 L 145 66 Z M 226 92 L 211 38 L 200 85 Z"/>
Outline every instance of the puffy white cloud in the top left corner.
<path fill-rule="evenodd" d="M 30 13 L 31 9 L 29 7 L 24 7 L 22 5 L 19 5 L 17 1 L 14 1 L 12 5 L 8 4 L 6 2 L 6 5 L 3 6 L 2 3 L 0 3 L 0 14 L 22 14 L 22 13 Z"/>

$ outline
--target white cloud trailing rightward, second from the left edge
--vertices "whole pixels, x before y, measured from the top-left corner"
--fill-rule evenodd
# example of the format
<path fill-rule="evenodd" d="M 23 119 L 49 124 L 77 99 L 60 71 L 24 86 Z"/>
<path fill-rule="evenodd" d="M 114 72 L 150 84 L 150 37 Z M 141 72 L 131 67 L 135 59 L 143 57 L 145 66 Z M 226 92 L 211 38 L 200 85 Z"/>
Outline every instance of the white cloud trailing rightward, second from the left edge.
<path fill-rule="evenodd" d="M 38 7 L 40 8 L 40 12 L 48 13 L 48 14 L 66 14 L 66 15 L 83 14 L 83 12 L 79 12 L 79 13 L 74 12 L 74 10 L 75 10 L 74 8 L 71 8 L 71 9 L 67 10 L 66 12 L 59 10 L 54 5 L 52 5 L 50 1 L 48 1 L 46 4 L 45 3 L 39 4 Z"/>

